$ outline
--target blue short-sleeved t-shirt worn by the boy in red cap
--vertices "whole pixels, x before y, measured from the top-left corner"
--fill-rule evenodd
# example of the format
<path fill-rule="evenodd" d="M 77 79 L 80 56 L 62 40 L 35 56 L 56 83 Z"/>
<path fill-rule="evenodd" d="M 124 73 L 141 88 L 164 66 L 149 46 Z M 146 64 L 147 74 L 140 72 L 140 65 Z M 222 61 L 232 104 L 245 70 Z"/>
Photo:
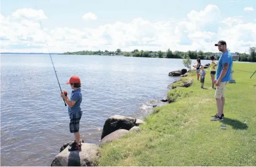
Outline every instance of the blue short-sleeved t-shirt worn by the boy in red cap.
<path fill-rule="evenodd" d="M 82 93 L 81 93 L 81 88 L 78 88 L 76 90 L 72 90 L 71 96 L 69 101 L 76 101 L 75 105 L 73 107 L 68 107 L 68 115 L 70 116 L 71 114 L 78 113 L 81 110 L 80 104 L 82 102 Z"/>

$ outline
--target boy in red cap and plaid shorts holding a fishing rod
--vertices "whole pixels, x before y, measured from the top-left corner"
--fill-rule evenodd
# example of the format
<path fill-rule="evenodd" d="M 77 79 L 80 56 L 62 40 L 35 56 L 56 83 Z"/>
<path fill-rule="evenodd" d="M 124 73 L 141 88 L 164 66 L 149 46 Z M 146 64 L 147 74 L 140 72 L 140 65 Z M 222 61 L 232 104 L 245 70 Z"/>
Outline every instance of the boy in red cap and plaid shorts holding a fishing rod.
<path fill-rule="evenodd" d="M 83 111 L 80 107 L 82 102 L 81 93 L 81 81 L 77 76 L 72 76 L 66 84 L 70 84 L 72 90 L 70 98 L 67 94 L 61 92 L 61 97 L 68 105 L 68 115 L 70 118 L 69 129 L 71 133 L 74 133 L 75 141 L 68 148 L 69 151 L 81 150 L 79 122 L 83 115 Z"/>

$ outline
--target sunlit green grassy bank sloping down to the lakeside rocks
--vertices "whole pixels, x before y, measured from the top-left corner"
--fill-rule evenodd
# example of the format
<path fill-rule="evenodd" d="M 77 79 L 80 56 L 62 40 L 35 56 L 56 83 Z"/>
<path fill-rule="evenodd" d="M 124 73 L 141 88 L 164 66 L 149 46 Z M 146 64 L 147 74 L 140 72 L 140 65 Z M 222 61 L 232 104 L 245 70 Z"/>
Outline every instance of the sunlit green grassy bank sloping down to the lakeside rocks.
<path fill-rule="evenodd" d="M 256 64 L 234 63 L 233 69 L 255 71 Z M 255 166 L 256 75 L 251 75 L 235 71 L 237 83 L 226 87 L 222 122 L 210 121 L 215 90 L 201 89 L 196 76 L 188 76 L 192 86 L 168 92 L 175 102 L 155 108 L 141 132 L 102 147 L 98 166 Z M 209 71 L 204 87 L 211 87 Z"/>

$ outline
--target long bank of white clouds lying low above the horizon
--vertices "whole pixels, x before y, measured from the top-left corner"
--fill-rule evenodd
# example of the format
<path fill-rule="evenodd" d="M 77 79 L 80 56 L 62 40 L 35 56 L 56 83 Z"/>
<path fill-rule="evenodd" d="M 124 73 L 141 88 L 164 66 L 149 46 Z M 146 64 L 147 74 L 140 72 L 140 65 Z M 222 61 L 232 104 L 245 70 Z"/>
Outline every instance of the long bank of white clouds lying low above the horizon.
<path fill-rule="evenodd" d="M 247 23 L 242 16 L 222 18 L 215 5 L 208 5 L 201 11 L 192 10 L 182 20 L 152 22 L 135 18 L 131 22 L 117 21 L 95 29 L 46 27 L 41 30 L 38 19 L 46 17 L 43 11 L 36 10 L 37 14 L 33 15 L 17 14 L 21 11 L 24 9 L 11 16 L 0 15 L 1 51 L 48 52 L 48 48 L 51 52 L 117 48 L 165 51 L 170 48 L 218 52 L 214 43 L 220 39 L 226 40 L 232 52 L 244 52 L 256 46 L 256 23 Z"/>

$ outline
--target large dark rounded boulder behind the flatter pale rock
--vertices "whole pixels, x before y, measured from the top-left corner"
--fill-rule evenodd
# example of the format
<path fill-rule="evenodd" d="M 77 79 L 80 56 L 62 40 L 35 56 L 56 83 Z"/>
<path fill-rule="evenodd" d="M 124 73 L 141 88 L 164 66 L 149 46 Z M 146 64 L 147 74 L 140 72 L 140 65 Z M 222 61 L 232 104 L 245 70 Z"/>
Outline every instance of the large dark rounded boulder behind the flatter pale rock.
<path fill-rule="evenodd" d="M 102 129 L 101 139 L 118 129 L 130 130 L 130 128 L 135 126 L 135 122 L 136 119 L 132 117 L 124 117 L 119 115 L 111 116 L 105 121 Z"/>

